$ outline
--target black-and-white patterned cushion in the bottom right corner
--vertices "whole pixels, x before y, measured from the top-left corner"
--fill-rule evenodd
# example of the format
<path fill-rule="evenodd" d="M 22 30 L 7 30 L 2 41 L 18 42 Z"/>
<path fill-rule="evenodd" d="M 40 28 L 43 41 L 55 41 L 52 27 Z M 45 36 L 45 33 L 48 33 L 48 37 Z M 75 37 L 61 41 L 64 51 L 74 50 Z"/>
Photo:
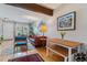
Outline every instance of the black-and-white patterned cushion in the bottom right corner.
<path fill-rule="evenodd" d="M 75 62 L 87 62 L 87 53 L 77 53 L 74 55 Z"/>

